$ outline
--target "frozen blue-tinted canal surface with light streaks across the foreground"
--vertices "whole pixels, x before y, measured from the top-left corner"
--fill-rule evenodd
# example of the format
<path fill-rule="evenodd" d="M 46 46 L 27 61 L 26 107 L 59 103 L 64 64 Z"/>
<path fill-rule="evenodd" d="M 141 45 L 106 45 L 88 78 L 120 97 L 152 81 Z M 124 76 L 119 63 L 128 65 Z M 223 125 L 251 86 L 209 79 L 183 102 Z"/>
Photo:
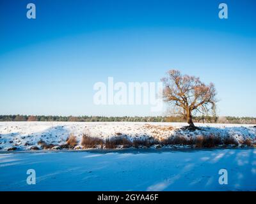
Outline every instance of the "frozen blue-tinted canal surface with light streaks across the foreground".
<path fill-rule="evenodd" d="M 28 185 L 27 170 L 36 172 Z M 220 185 L 220 169 L 228 184 Z M 255 191 L 256 149 L 0 154 L 0 191 Z"/>

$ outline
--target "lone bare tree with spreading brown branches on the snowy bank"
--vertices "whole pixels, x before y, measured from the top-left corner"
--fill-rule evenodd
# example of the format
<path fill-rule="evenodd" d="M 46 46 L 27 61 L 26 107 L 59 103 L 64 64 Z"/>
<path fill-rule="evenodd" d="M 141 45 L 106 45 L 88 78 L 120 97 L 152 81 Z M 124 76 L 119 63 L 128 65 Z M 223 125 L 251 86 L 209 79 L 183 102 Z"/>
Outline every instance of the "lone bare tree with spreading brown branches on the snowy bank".
<path fill-rule="evenodd" d="M 183 116 L 190 127 L 195 127 L 194 114 L 215 114 L 214 84 L 205 85 L 200 78 L 182 75 L 178 70 L 170 70 L 167 75 L 162 78 L 163 98 L 170 103 L 173 114 Z"/>

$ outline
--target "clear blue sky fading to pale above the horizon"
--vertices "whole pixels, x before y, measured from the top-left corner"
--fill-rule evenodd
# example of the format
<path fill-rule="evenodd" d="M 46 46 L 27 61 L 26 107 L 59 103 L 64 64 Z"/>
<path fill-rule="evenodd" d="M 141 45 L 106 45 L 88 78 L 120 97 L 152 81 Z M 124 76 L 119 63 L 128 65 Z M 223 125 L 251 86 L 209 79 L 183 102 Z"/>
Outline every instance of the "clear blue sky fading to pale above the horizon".
<path fill-rule="evenodd" d="M 220 115 L 256 117 L 256 1 L 1 0 L 0 27 L 0 114 L 161 115 L 93 105 L 93 84 L 175 68 L 214 82 Z"/>

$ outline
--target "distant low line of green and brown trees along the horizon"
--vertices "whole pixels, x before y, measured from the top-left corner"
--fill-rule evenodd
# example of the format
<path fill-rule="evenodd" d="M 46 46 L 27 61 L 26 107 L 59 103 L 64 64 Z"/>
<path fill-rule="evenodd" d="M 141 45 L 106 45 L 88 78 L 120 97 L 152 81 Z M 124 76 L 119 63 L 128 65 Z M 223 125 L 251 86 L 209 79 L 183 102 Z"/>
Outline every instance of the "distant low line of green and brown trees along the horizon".
<path fill-rule="evenodd" d="M 182 117 L 103 117 L 103 116 L 52 116 L 52 115 L 0 115 L 0 121 L 63 121 L 63 122 L 186 122 Z M 194 117 L 194 122 L 230 124 L 256 124 L 256 117 Z"/>

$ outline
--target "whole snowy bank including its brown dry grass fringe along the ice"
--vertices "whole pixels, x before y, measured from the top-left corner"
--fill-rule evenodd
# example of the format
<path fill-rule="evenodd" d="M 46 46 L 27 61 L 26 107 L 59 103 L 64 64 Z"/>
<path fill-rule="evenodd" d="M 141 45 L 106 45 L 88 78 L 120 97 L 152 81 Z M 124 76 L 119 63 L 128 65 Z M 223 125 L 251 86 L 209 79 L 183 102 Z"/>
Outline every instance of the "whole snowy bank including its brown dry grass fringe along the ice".
<path fill-rule="evenodd" d="M 76 140 L 75 149 L 85 147 L 82 145 L 84 136 L 87 139 L 97 138 L 98 143 L 92 143 L 90 140 L 93 148 L 112 146 L 122 148 L 126 147 L 125 145 L 128 147 L 241 146 L 253 145 L 256 142 L 256 128 L 253 125 L 195 124 L 200 127 L 196 131 L 182 128 L 186 125 L 179 122 L 0 122 L 0 149 L 68 148 L 70 146 L 67 145 L 67 139 L 70 134 Z M 113 142 L 114 139 L 118 140 Z M 91 146 L 86 145 L 86 148 Z"/>

